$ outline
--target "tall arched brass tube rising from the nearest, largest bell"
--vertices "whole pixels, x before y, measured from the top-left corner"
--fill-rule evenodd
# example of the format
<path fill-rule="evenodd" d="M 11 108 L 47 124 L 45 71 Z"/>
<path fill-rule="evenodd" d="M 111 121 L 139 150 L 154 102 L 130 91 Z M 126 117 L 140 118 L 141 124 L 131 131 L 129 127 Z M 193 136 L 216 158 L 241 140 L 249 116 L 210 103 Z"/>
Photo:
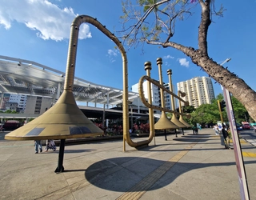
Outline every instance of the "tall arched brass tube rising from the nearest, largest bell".
<path fill-rule="evenodd" d="M 122 118 L 123 118 L 123 150 L 125 151 L 125 142 L 127 142 L 132 147 L 142 146 L 149 144 L 151 140 L 145 140 L 140 142 L 133 142 L 130 139 L 129 134 L 129 112 L 128 112 L 128 70 L 127 70 L 127 57 L 126 57 L 126 50 L 122 46 L 122 42 L 118 40 L 114 34 L 110 32 L 110 30 L 106 29 L 106 26 L 103 26 L 100 22 L 98 22 L 97 18 L 92 18 L 88 15 L 79 15 L 78 17 L 74 18 L 74 21 L 71 24 L 70 30 L 70 44 L 68 50 L 68 57 L 66 62 L 66 79 L 64 90 L 73 91 L 74 87 L 74 68 L 76 62 L 76 54 L 77 54 L 77 46 L 78 46 L 78 31 L 79 26 L 82 23 L 90 23 L 101 30 L 103 34 L 106 34 L 108 38 L 110 38 L 120 50 L 122 54 L 122 66 L 123 66 L 123 96 L 122 96 Z"/>

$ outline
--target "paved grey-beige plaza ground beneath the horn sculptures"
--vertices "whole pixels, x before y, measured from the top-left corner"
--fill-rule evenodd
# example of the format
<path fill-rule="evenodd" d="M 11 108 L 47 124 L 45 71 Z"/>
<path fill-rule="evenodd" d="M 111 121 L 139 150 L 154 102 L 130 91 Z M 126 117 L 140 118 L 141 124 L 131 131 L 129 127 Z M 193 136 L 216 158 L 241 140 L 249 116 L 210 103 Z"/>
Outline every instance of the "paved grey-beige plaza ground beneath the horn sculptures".
<path fill-rule="evenodd" d="M 158 136 L 136 150 L 122 139 L 66 145 L 65 171 L 54 173 L 58 150 L 34 154 L 33 141 L 0 133 L 1 199 L 241 199 L 234 150 L 212 129 Z M 145 140 L 146 138 L 133 138 Z M 241 139 L 250 199 L 256 199 L 256 148 Z M 43 146 L 44 147 L 44 146 Z"/>

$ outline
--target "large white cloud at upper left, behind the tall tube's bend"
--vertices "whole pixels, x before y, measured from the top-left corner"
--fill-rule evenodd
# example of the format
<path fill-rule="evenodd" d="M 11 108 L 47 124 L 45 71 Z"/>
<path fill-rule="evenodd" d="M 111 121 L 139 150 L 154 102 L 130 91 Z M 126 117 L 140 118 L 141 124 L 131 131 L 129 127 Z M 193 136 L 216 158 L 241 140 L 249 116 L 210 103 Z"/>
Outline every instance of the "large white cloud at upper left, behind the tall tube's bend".
<path fill-rule="evenodd" d="M 2 0 L 0 6 L 0 25 L 6 30 L 16 21 L 36 30 L 38 37 L 61 41 L 70 38 L 70 25 L 77 14 L 72 8 L 61 9 L 48 0 Z M 79 38 L 91 38 L 90 27 L 82 24 Z"/>

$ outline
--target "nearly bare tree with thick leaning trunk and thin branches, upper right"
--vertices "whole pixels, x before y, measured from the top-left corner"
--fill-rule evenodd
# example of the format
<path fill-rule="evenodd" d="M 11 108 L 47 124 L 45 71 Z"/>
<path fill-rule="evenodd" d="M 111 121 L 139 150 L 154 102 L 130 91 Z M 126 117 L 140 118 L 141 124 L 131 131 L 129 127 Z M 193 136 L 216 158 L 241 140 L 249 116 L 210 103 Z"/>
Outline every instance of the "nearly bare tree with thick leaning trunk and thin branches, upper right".
<path fill-rule="evenodd" d="M 136 2 L 137 6 L 133 2 Z M 211 78 L 234 95 L 245 106 L 251 118 L 256 120 L 256 92 L 236 74 L 215 62 L 208 54 L 207 34 L 214 17 L 223 15 L 225 9 L 218 10 L 214 0 L 123 0 L 122 38 L 128 46 L 146 42 L 163 48 L 171 47 L 182 51 L 191 58 Z M 193 10 L 201 8 L 201 22 L 198 26 L 198 48 L 185 46 L 173 41 L 175 27 Z M 195 12 L 196 13 L 196 12 Z"/>

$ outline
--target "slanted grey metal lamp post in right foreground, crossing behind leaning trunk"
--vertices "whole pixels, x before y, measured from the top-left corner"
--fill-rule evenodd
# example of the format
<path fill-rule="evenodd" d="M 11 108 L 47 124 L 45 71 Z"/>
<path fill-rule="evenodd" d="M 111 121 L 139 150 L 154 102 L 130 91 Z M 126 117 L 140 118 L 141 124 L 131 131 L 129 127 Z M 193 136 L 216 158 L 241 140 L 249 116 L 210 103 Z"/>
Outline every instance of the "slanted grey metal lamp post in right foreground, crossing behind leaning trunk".
<path fill-rule="evenodd" d="M 229 62 L 231 58 L 227 58 L 224 62 L 222 62 L 221 66 Z M 223 90 L 223 97 L 224 101 L 226 102 L 226 112 L 227 112 L 227 117 L 229 118 L 230 121 L 230 130 L 232 134 L 232 139 L 233 139 L 233 146 L 234 146 L 234 158 L 238 170 L 238 178 L 239 178 L 239 186 L 240 186 L 240 195 L 242 200 L 249 200 L 249 190 L 247 186 L 247 180 L 246 180 L 246 170 L 242 158 L 242 150 L 241 150 L 241 144 L 240 140 L 238 138 L 238 131 L 237 131 L 237 126 L 236 126 L 236 121 L 234 117 L 234 110 L 230 98 L 230 92 L 229 90 L 226 90 L 226 88 L 222 87 Z"/>

